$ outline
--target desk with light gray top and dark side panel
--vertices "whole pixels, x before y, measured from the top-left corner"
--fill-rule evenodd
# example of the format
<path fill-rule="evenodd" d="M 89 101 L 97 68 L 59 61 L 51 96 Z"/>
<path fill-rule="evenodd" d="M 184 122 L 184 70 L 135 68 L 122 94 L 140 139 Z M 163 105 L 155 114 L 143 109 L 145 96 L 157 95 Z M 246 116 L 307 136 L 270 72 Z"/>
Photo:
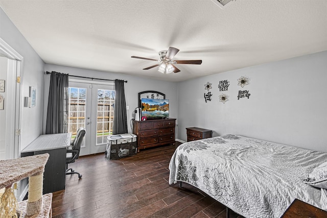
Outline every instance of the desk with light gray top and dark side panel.
<path fill-rule="evenodd" d="M 21 151 L 21 157 L 50 155 L 44 168 L 43 194 L 65 189 L 66 150 L 71 144 L 71 136 L 71 133 L 40 135 Z"/>

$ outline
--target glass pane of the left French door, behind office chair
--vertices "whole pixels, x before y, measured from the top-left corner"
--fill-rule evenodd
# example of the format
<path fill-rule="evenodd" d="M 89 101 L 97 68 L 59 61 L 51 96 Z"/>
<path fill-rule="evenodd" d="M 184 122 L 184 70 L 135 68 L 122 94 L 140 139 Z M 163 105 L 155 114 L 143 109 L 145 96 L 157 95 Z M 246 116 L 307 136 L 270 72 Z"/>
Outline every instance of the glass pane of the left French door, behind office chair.
<path fill-rule="evenodd" d="M 68 98 L 68 132 L 73 139 L 77 130 L 85 127 L 86 88 L 69 87 Z"/>

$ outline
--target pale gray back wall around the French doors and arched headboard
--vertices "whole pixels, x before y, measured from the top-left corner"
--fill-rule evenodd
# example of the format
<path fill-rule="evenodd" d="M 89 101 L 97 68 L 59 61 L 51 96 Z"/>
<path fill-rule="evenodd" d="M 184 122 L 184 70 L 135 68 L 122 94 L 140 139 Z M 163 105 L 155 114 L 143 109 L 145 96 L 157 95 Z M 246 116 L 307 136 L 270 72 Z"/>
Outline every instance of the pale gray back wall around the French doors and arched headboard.
<path fill-rule="evenodd" d="M 64 74 L 82 76 L 82 77 L 92 77 L 92 78 L 101 78 L 101 79 L 120 79 L 127 80 L 127 83 L 124 84 L 125 88 L 125 98 L 126 98 L 126 106 L 129 106 L 129 110 L 127 111 L 127 122 L 128 122 L 128 131 L 132 132 L 131 127 L 129 125 L 130 119 L 132 119 L 132 113 L 134 109 L 137 107 L 137 99 L 138 92 L 154 90 L 159 91 L 166 94 L 166 99 L 169 99 L 169 116 L 177 118 L 177 107 L 178 107 L 178 99 L 177 99 L 177 82 L 166 82 L 153 80 L 142 77 L 133 77 L 124 74 L 116 74 L 114 72 L 104 72 L 90 69 L 82 69 L 76 67 L 68 67 L 54 64 L 45 64 L 45 71 L 57 71 L 62 72 Z M 72 79 L 79 79 L 75 77 L 71 77 Z M 50 74 L 44 75 L 44 115 L 43 115 L 43 132 L 45 132 L 45 123 L 46 123 L 46 110 L 48 108 L 48 96 L 49 96 L 49 84 L 50 84 Z M 178 119 L 177 119 L 178 120 Z M 177 121 L 178 122 L 178 121 Z M 176 129 L 177 135 L 177 129 Z"/>

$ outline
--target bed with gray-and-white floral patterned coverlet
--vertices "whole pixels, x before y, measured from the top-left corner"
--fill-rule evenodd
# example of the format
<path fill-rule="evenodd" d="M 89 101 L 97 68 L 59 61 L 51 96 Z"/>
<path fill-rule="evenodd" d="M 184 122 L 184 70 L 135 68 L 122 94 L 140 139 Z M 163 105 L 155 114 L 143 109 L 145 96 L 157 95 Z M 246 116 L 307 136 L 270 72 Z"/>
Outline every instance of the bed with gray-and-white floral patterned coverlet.
<path fill-rule="evenodd" d="M 327 153 L 224 135 L 181 144 L 169 184 L 189 183 L 245 217 L 281 217 L 294 199 L 327 209 Z"/>

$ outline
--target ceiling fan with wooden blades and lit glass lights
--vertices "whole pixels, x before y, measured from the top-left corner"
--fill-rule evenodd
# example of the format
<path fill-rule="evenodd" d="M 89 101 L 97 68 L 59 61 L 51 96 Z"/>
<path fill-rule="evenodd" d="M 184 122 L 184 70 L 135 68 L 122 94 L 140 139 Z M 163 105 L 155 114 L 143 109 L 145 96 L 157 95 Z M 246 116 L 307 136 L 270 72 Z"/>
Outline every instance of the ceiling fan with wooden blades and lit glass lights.
<path fill-rule="evenodd" d="M 174 64 L 201 64 L 202 60 L 172 60 L 174 56 L 179 52 L 179 49 L 175 47 L 169 47 L 168 50 L 160 51 L 159 56 L 160 60 L 151 59 L 151 58 L 143 58 L 132 56 L 132 58 L 139 58 L 150 61 L 160 62 L 158 64 L 146 67 L 144 69 L 151 69 L 153 67 L 159 66 L 158 71 L 162 72 L 162 74 L 170 74 L 171 72 L 179 72 L 180 70 Z"/>

